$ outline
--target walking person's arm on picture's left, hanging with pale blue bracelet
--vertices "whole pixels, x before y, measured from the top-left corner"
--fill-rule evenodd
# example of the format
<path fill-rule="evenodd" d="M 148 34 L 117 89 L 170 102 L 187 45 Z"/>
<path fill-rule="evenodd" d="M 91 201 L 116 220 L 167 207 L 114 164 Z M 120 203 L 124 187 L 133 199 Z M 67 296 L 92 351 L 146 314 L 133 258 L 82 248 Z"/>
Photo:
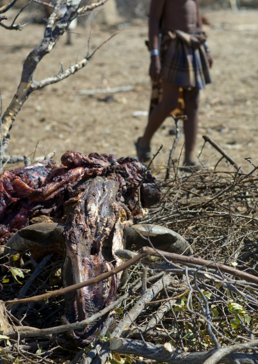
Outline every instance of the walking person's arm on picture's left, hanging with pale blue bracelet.
<path fill-rule="evenodd" d="M 149 46 L 150 51 L 158 49 L 159 23 L 162 18 L 163 8 L 166 0 L 151 0 L 149 14 Z M 160 59 L 159 55 L 151 56 L 150 77 L 157 82 L 160 77 Z"/>

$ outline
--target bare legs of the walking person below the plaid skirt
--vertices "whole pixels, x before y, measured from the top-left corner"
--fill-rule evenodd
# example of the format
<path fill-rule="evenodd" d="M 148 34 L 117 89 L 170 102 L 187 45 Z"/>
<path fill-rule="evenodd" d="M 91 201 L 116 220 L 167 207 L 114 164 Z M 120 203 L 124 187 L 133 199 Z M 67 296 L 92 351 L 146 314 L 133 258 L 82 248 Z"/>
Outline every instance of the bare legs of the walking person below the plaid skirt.
<path fill-rule="evenodd" d="M 140 147 L 147 148 L 156 130 L 162 125 L 171 111 L 177 107 L 179 87 L 163 81 L 163 99 L 156 105 L 146 126 L 144 135 L 139 140 Z M 194 150 L 198 127 L 199 90 L 184 90 L 185 112 L 188 120 L 184 122 L 185 158 L 184 163 L 194 164 Z"/>

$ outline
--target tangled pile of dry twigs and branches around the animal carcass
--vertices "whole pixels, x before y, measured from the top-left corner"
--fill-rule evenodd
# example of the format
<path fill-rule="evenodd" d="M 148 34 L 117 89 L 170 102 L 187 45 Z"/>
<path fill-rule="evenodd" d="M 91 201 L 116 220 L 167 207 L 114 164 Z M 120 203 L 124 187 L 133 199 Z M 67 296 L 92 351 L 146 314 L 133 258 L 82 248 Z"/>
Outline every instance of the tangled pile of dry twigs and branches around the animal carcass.
<path fill-rule="evenodd" d="M 59 334 L 37 333 L 34 337 L 24 334 L 26 327 L 22 325 L 38 329 L 58 326 L 62 296 L 7 306 L 9 322 L 18 336 L 2 342 L 2 362 L 18 362 L 18 358 L 23 363 L 71 360 L 115 364 L 139 362 L 140 356 L 140 360 L 145 358 L 142 362 L 255 363 L 257 181 L 255 169 L 248 175 L 208 170 L 176 173 L 163 184 L 161 204 L 142 220 L 175 230 L 192 244 L 196 258 L 227 265 L 232 274 L 224 273 L 219 264 L 209 267 L 207 262 L 201 266 L 198 259 L 191 261 L 189 257 L 179 262 L 173 254 L 152 250 L 129 270 L 129 280 L 112 304 L 99 340 L 87 348 L 75 348 L 64 330 Z M 130 258 L 129 252 L 124 254 Z M 33 270 L 32 263 L 27 257 L 23 269 Z M 31 271 L 23 271 L 22 287 L 28 285 L 23 296 L 43 294 L 60 286 L 61 262 L 45 264 L 37 265 L 33 278 Z M 253 275 L 254 281 L 237 278 L 238 271 Z M 11 273 L 7 274 L 10 281 L 2 283 L 4 301 L 17 297 L 21 287 L 11 277 Z"/>

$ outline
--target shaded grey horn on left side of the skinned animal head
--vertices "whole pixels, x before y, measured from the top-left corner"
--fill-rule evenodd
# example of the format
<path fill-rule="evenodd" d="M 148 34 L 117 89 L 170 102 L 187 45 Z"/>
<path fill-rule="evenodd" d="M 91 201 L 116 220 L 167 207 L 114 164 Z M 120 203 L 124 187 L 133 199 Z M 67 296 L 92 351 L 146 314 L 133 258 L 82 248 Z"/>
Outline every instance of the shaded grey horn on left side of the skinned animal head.
<path fill-rule="evenodd" d="M 63 224 L 39 223 L 26 226 L 7 241 L 4 254 L 24 252 L 36 246 L 61 246 L 64 242 Z"/>

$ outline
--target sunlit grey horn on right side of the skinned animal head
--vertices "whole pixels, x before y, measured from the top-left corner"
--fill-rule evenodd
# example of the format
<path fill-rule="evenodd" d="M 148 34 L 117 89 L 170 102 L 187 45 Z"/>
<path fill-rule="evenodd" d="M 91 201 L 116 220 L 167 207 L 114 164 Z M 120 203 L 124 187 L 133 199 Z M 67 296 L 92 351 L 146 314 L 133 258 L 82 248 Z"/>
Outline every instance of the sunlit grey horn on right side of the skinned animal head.
<path fill-rule="evenodd" d="M 193 250 L 188 242 L 175 231 L 164 226 L 153 224 L 128 225 L 124 229 L 127 243 L 137 248 L 150 246 L 149 240 L 156 249 L 190 256 Z"/>

